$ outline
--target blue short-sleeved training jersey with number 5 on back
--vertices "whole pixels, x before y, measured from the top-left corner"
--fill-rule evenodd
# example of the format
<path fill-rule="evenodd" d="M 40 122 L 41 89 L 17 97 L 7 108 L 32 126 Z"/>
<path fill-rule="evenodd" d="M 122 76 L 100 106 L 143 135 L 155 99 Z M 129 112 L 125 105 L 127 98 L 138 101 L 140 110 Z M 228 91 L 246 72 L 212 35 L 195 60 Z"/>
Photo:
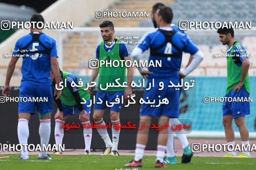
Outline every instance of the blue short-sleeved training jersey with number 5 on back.
<path fill-rule="evenodd" d="M 34 32 L 37 33 L 37 32 Z M 22 54 L 21 50 L 26 47 L 32 40 L 32 34 L 26 34 L 19 38 L 15 44 L 13 55 L 17 56 Z M 56 40 L 42 33 L 39 36 L 39 40 L 49 50 L 47 53 L 25 53 L 22 61 L 22 84 L 34 84 L 34 85 L 51 85 L 51 59 L 50 57 L 58 57 Z M 26 49 L 45 50 L 45 48 L 38 42 L 34 41 Z M 19 57 L 19 56 L 17 56 Z"/>

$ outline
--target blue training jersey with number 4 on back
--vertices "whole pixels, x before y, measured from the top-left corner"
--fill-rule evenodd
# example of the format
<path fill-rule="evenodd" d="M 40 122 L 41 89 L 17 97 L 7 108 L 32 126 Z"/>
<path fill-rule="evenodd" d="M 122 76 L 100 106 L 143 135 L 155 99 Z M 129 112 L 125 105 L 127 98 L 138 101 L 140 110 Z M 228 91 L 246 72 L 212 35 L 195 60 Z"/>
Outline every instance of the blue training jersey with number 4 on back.
<path fill-rule="evenodd" d="M 176 30 L 177 32 L 172 36 L 172 42 L 181 50 L 191 55 L 195 54 L 199 49 L 195 43 L 187 36 L 186 33 L 178 29 L 176 25 L 171 27 L 161 27 L 163 30 Z M 151 32 L 147 32 L 141 38 L 141 43 L 138 45 L 143 51 L 149 48 L 156 48 L 160 46 L 165 41 L 165 35 L 159 30 L 156 29 Z M 178 50 L 179 50 L 178 49 Z M 160 49 L 157 50 L 158 53 L 165 54 L 167 51 L 172 54 L 177 54 L 178 51 L 173 45 L 167 45 L 167 43 Z M 163 79 L 172 79 L 179 78 L 181 61 L 182 61 L 182 52 L 179 57 L 166 57 L 166 56 L 154 56 L 150 55 L 149 61 L 153 60 L 154 63 L 156 60 L 162 61 L 161 67 L 149 66 L 149 71 L 153 71 L 152 74 L 149 74 L 149 77 L 152 78 L 163 78 Z"/>

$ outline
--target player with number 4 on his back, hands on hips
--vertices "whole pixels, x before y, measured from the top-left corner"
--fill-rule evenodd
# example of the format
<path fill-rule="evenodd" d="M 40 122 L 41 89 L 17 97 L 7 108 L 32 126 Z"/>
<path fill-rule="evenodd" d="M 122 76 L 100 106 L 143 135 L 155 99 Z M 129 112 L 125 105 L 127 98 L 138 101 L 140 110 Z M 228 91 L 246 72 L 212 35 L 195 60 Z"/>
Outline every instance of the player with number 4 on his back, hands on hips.
<path fill-rule="evenodd" d="M 169 118 L 177 118 L 179 115 L 179 97 L 180 90 L 175 87 L 168 87 L 170 80 L 174 84 L 178 84 L 179 77 L 185 77 L 190 73 L 203 59 L 203 54 L 196 45 L 185 35 L 170 27 L 173 13 L 172 9 L 168 6 L 162 6 L 157 10 L 155 19 L 159 29 L 148 32 L 142 37 L 142 42 L 133 52 L 132 57 L 137 58 L 145 50 L 150 48 L 149 60 L 160 61 L 162 60 L 161 67 L 150 66 L 149 70 L 144 70 L 142 73 L 148 75 L 147 88 L 149 83 L 153 83 L 149 90 L 145 90 L 144 100 L 156 100 L 155 104 L 159 105 L 159 100 L 167 98 L 169 104 L 162 104 L 159 107 L 152 107 L 151 104 L 141 105 L 140 121 L 145 121 L 150 124 L 153 116 L 159 118 L 159 126 L 168 123 Z M 182 51 L 188 52 L 193 55 L 193 60 L 190 65 L 183 71 L 180 71 Z M 159 90 L 159 82 L 164 83 L 164 89 Z M 137 144 L 135 150 L 135 158 L 130 163 L 125 164 L 126 167 L 142 167 L 142 158 L 148 140 L 149 126 L 138 131 Z M 166 144 L 168 139 L 168 129 L 165 128 L 159 131 L 158 145 L 157 145 L 157 159 L 155 167 L 165 167 L 164 156 L 166 151 Z"/>

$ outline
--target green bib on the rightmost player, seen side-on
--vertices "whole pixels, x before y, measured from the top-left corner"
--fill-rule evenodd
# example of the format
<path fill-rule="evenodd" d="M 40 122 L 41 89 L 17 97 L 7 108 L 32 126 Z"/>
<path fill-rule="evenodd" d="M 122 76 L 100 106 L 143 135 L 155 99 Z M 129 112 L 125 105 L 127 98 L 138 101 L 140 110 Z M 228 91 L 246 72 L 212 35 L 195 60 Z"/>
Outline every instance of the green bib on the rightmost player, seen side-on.
<path fill-rule="evenodd" d="M 241 80 L 241 74 L 242 74 L 242 65 L 238 66 L 234 63 L 232 55 L 233 55 L 233 49 L 236 44 L 240 44 L 236 42 L 233 44 L 230 54 L 227 55 L 227 88 L 226 88 L 226 94 L 233 90 L 233 86 L 235 84 L 238 84 Z M 245 90 L 250 93 L 250 87 L 249 87 L 249 76 L 248 73 L 244 79 L 243 86 Z"/>

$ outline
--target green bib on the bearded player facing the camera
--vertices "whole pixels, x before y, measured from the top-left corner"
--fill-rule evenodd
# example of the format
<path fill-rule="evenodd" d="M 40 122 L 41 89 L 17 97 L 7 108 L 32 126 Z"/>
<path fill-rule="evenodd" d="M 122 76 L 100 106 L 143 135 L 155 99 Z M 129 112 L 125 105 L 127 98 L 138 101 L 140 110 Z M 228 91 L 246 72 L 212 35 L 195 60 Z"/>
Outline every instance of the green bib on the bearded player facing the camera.
<path fill-rule="evenodd" d="M 111 83 L 114 85 L 118 85 L 118 83 L 115 82 L 115 79 L 120 78 L 118 82 L 122 84 L 123 82 L 126 81 L 126 67 L 123 62 L 123 67 L 120 63 L 121 58 L 119 56 L 119 44 L 120 40 L 117 39 L 114 47 L 112 48 L 111 51 L 107 52 L 104 49 L 104 41 L 101 42 L 100 47 L 99 47 L 99 63 L 101 60 L 105 60 L 106 62 L 112 62 L 114 60 L 117 60 L 119 62 L 119 66 L 113 67 L 110 66 L 110 64 L 104 64 L 104 65 L 99 65 L 99 80 L 98 80 L 98 90 L 99 91 L 121 91 L 125 90 L 125 87 L 108 87 L 106 88 L 107 83 Z M 115 61 L 114 65 L 116 65 L 117 61 Z M 101 87 L 100 88 L 100 84 Z"/>

